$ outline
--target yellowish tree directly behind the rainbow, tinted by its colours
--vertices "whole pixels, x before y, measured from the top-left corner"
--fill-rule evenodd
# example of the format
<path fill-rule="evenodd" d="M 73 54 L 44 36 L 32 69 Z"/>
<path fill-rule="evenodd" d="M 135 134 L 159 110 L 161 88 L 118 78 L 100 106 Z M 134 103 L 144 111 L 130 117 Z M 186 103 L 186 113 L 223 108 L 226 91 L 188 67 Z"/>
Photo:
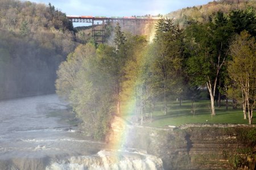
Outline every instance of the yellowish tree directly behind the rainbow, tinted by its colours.
<path fill-rule="evenodd" d="M 141 118 L 143 124 L 146 103 L 149 97 L 147 80 L 147 41 L 144 36 L 131 36 L 127 39 L 129 43 L 129 60 L 123 70 L 125 72 L 122 82 L 122 101 L 126 104 L 133 103 L 133 112 L 136 113 L 137 120 Z"/>

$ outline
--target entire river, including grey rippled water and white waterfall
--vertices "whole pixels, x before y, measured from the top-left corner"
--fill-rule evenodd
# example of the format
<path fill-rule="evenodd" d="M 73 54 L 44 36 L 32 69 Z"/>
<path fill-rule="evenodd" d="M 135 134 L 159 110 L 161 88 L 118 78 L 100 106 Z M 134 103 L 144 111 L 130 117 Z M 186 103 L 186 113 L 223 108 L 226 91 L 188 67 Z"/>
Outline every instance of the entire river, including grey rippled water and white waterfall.
<path fill-rule="evenodd" d="M 106 150 L 49 116 L 65 109 L 57 95 L 0 101 L 0 169 L 163 169 L 156 156 Z"/>

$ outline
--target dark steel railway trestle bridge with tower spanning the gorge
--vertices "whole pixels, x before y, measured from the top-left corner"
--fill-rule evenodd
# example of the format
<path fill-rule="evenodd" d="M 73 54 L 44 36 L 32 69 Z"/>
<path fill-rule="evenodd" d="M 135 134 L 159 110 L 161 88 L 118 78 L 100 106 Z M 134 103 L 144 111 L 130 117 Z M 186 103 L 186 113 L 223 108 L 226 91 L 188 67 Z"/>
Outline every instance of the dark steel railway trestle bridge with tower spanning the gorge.
<path fill-rule="evenodd" d="M 105 17 L 86 17 L 83 16 L 67 16 L 68 19 L 73 23 L 92 23 L 92 37 L 95 42 L 104 43 L 106 40 L 105 37 L 105 28 L 108 23 L 119 23 L 123 26 L 132 26 L 136 27 L 136 24 L 155 24 L 158 22 L 158 19 L 155 18 L 105 18 Z"/>

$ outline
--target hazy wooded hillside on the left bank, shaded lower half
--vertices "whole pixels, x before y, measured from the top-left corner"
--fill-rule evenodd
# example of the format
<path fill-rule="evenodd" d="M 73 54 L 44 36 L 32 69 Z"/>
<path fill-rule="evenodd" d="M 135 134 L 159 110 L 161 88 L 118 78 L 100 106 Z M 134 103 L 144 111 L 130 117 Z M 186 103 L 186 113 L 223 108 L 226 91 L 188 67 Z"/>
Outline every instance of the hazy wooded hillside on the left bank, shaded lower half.
<path fill-rule="evenodd" d="M 54 6 L 0 0 L 0 99 L 54 92 L 75 46 L 72 23 Z"/>

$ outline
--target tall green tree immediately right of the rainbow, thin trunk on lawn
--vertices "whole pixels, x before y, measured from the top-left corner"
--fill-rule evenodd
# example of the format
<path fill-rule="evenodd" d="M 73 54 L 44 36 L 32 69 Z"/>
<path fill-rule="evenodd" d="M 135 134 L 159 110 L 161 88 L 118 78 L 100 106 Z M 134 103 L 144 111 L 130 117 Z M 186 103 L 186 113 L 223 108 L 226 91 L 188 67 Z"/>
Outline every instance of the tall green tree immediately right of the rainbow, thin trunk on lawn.
<path fill-rule="evenodd" d="M 162 91 L 164 114 L 167 114 L 167 94 L 177 84 L 181 70 L 182 52 L 180 50 L 181 30 L 173 19 L 160 19 L 156 24 L 156 35 L 152 48 L 152 76 L 155 88 Z M 176 88 L 177 89 L 177 88 Z"/>

